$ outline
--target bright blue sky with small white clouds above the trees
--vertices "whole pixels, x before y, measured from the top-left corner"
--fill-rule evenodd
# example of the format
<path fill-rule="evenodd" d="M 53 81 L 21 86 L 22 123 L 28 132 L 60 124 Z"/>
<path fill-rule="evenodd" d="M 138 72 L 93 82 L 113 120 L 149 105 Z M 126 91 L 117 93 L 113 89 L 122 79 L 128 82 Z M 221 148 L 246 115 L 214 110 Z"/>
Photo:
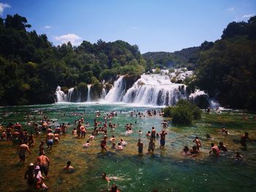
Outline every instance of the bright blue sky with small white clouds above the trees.
<path fill-rule="evenodd" d="M 232 21 L 256 14 L 255 0 L 0 0 L 0 17 L 18 13 L 53 45 L 68 40 L 138 45 L 141 53 L 215 41 Z"/>

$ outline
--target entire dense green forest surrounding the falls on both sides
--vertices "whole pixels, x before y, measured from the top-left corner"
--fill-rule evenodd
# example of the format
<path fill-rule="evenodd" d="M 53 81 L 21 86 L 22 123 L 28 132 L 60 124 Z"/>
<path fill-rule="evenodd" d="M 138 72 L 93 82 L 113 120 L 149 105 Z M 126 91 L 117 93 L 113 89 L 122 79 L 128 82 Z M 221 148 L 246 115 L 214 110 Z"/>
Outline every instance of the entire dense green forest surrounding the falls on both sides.
<path fill-rule="evenodd" d="M 113 82 L 117 74 L 187 67 L 197 74 L 197 88 L 223 106 L 256 109 L 256 17 L 228 24 L 216 42 L 143 55 L 121 40 L 53 46 L 30 27 L 17 14 L 0 18 L 1 105 L 51 103 L 58 85 L 83 90 L 90 83 L 97 95 L 102 80 Z"/>

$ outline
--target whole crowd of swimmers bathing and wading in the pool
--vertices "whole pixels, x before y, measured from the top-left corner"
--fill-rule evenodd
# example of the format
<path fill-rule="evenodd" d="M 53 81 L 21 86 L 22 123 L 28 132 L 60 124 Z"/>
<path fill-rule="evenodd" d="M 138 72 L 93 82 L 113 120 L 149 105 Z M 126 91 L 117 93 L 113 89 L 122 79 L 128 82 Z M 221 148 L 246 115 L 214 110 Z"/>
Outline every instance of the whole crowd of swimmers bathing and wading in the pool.
<path fill-rule="evenodd" d="M 120 112 L 121 114 L 122 112 Z M 43 112 L 40 112 L 42 115 Z M 79 116 L 78 120 L 75 120 L 74 124 L 75 127 L 72 128 L 72 135 L 75 137 L 86 139 L 86 142 L 83 144 L 83 147 L 89 148 L 91 147 L 91 141 L 94 140 L 95 137 L 100 137 L 100 135 L 103 134 L 102 140 L 99 144 L 99 148 L 103 151 L 106 150 L 124 150 L 124 147 L 128 145 L 128 142 L 124 141 L 123 138 L 116 139 L 116 137 L 113 135 L 113 132 L 116 128 L 119 127 L 119 124 L 112 123 L 112 119 L 118 116 L 117 112 L 108 112 L 104 117 L 102 117 L 101 112 L 95 112 L 94 117 L 94 124 L 91 126 L 88 121 L 85 121 L 84 118 L 86 117 L 83 113 L 76 113 L 74 112 L 72 115 Z M 157 110 L 148 110 L 146 111 L 147 117 L 151 117 L 154 115 L 162 116 L 162 111 Z M 132 111 L 130 112 L 130 117 L 135 118 L 146 118 L 146 115 L 143 114 L 143 112 L 136 112 Z M 102 118 L 103 121 L 99 121 L 99 119 Z M 50 159 L 45 155 L 45 145 L 47 145 L 48 150 L 53 150 L 53 145 L 59 145 L 59 142 L 61 142 L 61 136 L 64 136 L 67 134 L 67 129 L 71 128 L 70 123 L 61 123 L 60 125 L 56 125 L 56 122 L 54 120 L 50 120 L 48 116 L 43 115 L 43 118 L 39 120 L 39 122 L 35 122 L 36 118 L 34 118 L 34 121 L 29 121 L 28 123 L 32 123 L 34 127 L 34 131 L 30 131 L 30 133 L 26 130 L 26 128 L 23 129 L 23 127 L 20 125 L 20 123 L 9 123 L 6 128 L 4 126 L 0 125 L 1 128 L 1 139 L 12 141 L 13 146 L 17 146 L 18 155 L 20 158 L 20 162 L 26 161 L 26 152 L 29 154 L 31 151 L 29 150 L 29 147 L 34 147 L 35 145 L 35 137 L 39 137 L 44 135 L 45 140 L 42 140 L 39 145 L 39 155 L 37 156 L 37 161 L 35 164 L 31 163 L 29 164 L 29 168 L 27 169 L 25 173 L 25 179 L 27 180 L 27 183 L 30 186 L 36 186 L 36 188 L 41 189 L 48 189 L 48 186 L 45 184 L 44 180 L 48 178 L 48 169 L 50 165 Z M 135 121 L 135 124 L 137 124 L 137 120 Z M 55 128 L 52 128 L 52 127 Z M 151 128 L 151 131 L 148 131 L 146 134 L 146 138 L 148 138 L 148 147 L 147 147 L 147 153 L 154 153 L 155 147 L 157 146 L 156 141 L 159 139 L 159 148 L 165 148 L 165 136 L 167 135 L 167 128 L 168 124 L 166 120 L 163 120 L 161 123 L 162 131 L 157 133 L 156 128 L 153 126 Z M 111 134 L 109 134 L 109 131 L 111 131 Z M 141 139 L 142 131 L 135 131 L 135 128 L 132 123 L 127 123 L 124 126 L 124 131 L 129 137 L 129 134 L 132 134 L 136 132 L 138 134 L 138 153 L 139 155 L 143 154 L 143 139 Z M 34 134 L 35 133 L 35 137 Z M 228 131 L 225 128 L 222 128 L 223 134 L 228 134 Z M 111 135 L 111 136 L 110 136 Z M 209 134 L 206 135 L 207 139 L 211 139 L 211 136 Z M 245 133 L 240 140 L 241 146 L 246 147 L 246 142 L 250 141 L 249 134 Z M 184 146 L 184 149 L 182 152 L 185 155 L 196 155 L 200 153 L 200 148 L 202 147 L 202 143 L 199 139 L 199 137 L 195 137 L 195 139 L 192 141 L 195 143 L 194 146 L 192 146 L 191 149 L 189 149 L 188 146 Z M 108 147 L 108 144 L 110 143 L 110 147 Z M 219 142 L 219 146 L 215 145 L 214 143 L 211 143 L 211 150 L 209 153 L 212 153 L 216 156 L 221 155 L 221 153 L 226 153 L 227 147 L 223 144 L 223 142 Z M 240 153 L 236 153 L 236 158 L 242 158 L 242 155 Z M 71 166 L 71 162 L 68 161 L 67 165 L 64 166 L 64 172 L 72 173 L 74 172 L 74 167 Z M 44 177 L 43 177 L 44 175 Z M 109 177 L 106 174 L 102 174 L 102 178 L 110 181 Z M 111 186 L 111 191 L 119 191 L 116 185 Z"/>

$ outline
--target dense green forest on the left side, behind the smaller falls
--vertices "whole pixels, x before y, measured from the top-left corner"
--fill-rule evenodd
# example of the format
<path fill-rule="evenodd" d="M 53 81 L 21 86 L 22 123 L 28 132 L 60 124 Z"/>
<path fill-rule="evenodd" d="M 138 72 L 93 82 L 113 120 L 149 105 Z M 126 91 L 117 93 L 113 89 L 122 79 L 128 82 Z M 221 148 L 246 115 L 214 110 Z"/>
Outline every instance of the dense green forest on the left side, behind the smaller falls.
<path fill-rule="evenodd" d="M 137 45 L 99 39 L 95 44 L 55 47 L 45 34 L 27 30 L 30 27 L 17 14 L 0 18 L 1 105 L 50 103 L 57 85 L 83 89 L 91 83 L 99 88 L 102 80 L 142 74 L 148 68 Z"/>

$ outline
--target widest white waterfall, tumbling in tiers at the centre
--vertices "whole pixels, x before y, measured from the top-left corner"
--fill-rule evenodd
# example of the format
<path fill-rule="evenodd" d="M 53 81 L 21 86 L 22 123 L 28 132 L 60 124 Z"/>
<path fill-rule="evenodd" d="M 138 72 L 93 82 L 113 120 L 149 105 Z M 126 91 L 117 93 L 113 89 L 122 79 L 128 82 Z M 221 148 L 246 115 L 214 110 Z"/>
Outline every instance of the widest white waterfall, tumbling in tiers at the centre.
<path fill-rule="evenodd" d="M 143 74 L 129 88 L 122 101 L 126 103 L 173 105 L 187 99 L 186 85 L 170 82 L 168 75 Z"/>

